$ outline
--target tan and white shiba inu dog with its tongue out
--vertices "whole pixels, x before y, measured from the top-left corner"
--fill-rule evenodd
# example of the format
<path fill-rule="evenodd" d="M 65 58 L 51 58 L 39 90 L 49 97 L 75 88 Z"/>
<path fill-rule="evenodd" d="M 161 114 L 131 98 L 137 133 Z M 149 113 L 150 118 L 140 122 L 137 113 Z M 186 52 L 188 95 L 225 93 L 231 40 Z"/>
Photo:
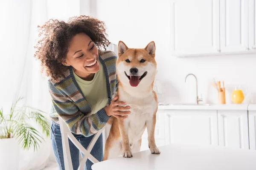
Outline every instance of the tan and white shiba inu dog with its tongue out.
<path fill-rule="evenodd" d="M 122 41 L 118 44 L 117 96 L 119 101 L 124 101 L 131 107 L 131 113 L 126 119 L 109 119 L 111 129 L 103 160 L 118 156 L 130 158 L 132 153 L 140 152 L 146 127 L 151 153 L 160 154 L 154 139 L 157 113 L 157 95 L 153 90 L 157 71 L 155 50 L 154 41 L 145 48 L 128 48 Z"/>

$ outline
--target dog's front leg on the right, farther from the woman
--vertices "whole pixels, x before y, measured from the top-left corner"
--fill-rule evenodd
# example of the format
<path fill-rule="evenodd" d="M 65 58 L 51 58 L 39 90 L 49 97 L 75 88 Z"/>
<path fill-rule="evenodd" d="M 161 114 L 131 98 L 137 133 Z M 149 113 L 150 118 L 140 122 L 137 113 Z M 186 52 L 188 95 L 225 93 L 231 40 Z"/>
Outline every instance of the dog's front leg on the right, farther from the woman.
<path fill-rule="evenodd" d="M 154 113 L 151 119 L 148 119 L 146 121 L 147 131 L 148 131 L 148 147 L 151 153 L 160 154 L 161 152 L 157 148 L 157 145 L 154 139 L 154 130 L 155 130 L 156 121 L 157 121 L 156 113 Z"/>

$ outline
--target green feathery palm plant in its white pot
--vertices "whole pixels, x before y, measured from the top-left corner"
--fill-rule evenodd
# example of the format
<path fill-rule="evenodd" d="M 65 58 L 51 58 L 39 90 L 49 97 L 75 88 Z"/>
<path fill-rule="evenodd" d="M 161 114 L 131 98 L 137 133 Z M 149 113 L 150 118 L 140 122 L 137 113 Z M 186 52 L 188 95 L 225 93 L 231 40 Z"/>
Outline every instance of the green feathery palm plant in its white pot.
<path fill-rule="evenodd" d="M 17 169 L 20 147 L 36 151 L 44 140 L 42 135 L 48 137 L 50 134 L 49 120 L 44 112 L 26 105 L 18 106 L 21 100 L 15 99 L 7 114 L 3 113 L 3 108 L 0 110 L 0 170 Z"/>

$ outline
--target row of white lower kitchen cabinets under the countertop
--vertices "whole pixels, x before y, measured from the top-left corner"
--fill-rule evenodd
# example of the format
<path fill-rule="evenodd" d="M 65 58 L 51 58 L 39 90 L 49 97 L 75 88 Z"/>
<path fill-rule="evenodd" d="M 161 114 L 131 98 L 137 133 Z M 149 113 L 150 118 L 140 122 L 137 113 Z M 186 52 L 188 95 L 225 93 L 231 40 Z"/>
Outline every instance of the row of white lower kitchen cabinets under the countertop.
<path fill-rule="evenodd" d="M 256 150 L 256 105 L 251 106 L 249 119 L 247 106 L 241 109 L 234 105 L 228 109 L 224 107 L 223 110 L 221 107 L 214 108 L 216 110 L 177 110 L 174 107 L 157 111 L 157 146 L 183 143 L 249 149 L 250 145 L 250 149 Z M 145 130 L 141 150 L 148 150 L 147 137 Z"/>

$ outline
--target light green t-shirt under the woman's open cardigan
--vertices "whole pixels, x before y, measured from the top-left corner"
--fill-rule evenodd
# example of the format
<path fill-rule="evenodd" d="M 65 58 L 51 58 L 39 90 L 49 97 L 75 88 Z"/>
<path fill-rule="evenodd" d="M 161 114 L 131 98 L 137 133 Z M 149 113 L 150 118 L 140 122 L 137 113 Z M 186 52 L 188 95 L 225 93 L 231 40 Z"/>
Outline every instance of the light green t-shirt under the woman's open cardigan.
<path fill-rule="evenodd" d="M 93 114 L 104 108 L 108 104 L 108 90 L 105 72 L 100 62 L 99 65 L 100 69 L 96 74 L 94 74 L 94 77 L 91 81 L 81 79 L 73 71 L 76 82 L 82 93 L 84 94 L 87 102 L 89 102 Z"/>

